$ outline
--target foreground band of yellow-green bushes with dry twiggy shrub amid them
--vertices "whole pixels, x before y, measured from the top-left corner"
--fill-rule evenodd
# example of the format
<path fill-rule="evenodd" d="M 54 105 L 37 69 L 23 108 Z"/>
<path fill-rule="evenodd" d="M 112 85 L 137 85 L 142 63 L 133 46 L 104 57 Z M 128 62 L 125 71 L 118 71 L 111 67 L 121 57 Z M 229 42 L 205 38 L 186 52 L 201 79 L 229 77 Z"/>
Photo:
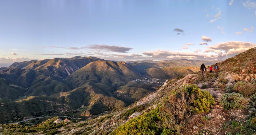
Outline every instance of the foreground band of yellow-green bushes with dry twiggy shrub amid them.
<path fill-rule="evenodd" d="M 215 103 L 208 91 L 201 91 L 197 85 L 188 84 L 173 91 L 155 109 L 131 119 L 111 134 L 163 134 L 180 133 L 192 113 L 209 112 Z"/>

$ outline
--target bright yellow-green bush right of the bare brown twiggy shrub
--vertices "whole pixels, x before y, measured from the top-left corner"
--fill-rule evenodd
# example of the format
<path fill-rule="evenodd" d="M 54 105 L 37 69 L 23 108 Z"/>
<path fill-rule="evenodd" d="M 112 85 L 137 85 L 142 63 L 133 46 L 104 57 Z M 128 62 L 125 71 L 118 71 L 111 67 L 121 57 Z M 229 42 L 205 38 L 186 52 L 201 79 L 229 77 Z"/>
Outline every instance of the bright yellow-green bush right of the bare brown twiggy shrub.
<path fill-rule="evenodd" d="M 201 91 L 197 85 L 184 85 L 182 89 L 188 92 L 191 96 L 194 96 L 194 109 L 198 113 L 208 113 L 210 111 L 211 105 L 215 104 L 214 97 L 210 94 L 210 92 L 207 90 Z"/>

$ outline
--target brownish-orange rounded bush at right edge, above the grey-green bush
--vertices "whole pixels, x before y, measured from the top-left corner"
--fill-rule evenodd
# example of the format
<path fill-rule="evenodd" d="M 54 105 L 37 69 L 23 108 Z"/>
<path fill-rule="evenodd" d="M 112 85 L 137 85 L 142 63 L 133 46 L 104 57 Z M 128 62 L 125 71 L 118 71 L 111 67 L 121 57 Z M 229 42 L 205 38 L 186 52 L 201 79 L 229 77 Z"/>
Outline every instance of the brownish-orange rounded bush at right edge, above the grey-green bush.
<path fill-rule="evenodd" d="M 239 81 L 234 85 L 234 92 L 241 93 L 245 97 L 249 97 L 256 91 L 256 85 L 246 81 Z"/>

